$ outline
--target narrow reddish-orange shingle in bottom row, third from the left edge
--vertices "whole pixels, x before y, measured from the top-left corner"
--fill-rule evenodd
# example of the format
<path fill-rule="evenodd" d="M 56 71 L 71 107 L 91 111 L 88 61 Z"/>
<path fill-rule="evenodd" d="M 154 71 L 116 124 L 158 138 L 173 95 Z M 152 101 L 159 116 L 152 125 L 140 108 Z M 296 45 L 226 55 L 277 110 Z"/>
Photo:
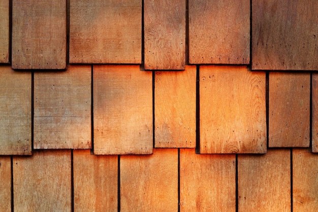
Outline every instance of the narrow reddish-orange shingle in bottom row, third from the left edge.
<path fill-rule="evenodd" d="M 118 156 L 74 150 L 74 211 L 117 211 Z"/>

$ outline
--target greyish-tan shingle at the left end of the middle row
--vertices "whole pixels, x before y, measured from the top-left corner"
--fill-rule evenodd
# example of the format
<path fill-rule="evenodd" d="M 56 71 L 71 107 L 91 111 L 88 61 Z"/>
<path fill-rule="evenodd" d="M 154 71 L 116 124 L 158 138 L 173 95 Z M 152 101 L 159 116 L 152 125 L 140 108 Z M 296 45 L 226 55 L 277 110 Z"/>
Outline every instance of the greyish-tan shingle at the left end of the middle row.
<path fill-rule="evenodd" d="M 0 67 L 0 155 L 31 155 L 31 73 Z"/>

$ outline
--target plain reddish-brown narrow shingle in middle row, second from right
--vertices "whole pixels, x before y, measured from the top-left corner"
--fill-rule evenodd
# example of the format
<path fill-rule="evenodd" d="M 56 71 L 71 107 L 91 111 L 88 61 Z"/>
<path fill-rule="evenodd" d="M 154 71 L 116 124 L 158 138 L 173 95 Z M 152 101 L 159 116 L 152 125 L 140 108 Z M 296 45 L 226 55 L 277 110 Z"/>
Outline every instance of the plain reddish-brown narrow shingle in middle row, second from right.
<path fill-rule="evenodd" d="M 310 73 L 269 73 L 269 146 L 309 146 Z"/>

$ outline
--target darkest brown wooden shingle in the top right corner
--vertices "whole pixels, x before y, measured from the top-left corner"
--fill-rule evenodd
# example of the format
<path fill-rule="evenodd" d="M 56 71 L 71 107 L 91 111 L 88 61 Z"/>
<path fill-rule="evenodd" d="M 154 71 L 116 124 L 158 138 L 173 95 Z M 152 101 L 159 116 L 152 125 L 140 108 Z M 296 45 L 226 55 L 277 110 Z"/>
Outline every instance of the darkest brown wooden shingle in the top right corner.
<path fill-rule="evenodd" d="M 318 2 L 252 0 L 252 69 L 318 69 Z"/>

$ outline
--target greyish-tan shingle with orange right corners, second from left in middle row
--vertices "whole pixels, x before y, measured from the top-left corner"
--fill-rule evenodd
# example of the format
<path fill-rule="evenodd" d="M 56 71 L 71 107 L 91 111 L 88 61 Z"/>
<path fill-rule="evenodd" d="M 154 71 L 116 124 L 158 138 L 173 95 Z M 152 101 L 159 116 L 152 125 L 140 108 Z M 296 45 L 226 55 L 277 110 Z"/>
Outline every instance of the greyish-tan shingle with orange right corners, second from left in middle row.
<path fill-rule="evenodd" d="M 91 147 L 91 66 L 34 74 L 34 148 Z"/>

